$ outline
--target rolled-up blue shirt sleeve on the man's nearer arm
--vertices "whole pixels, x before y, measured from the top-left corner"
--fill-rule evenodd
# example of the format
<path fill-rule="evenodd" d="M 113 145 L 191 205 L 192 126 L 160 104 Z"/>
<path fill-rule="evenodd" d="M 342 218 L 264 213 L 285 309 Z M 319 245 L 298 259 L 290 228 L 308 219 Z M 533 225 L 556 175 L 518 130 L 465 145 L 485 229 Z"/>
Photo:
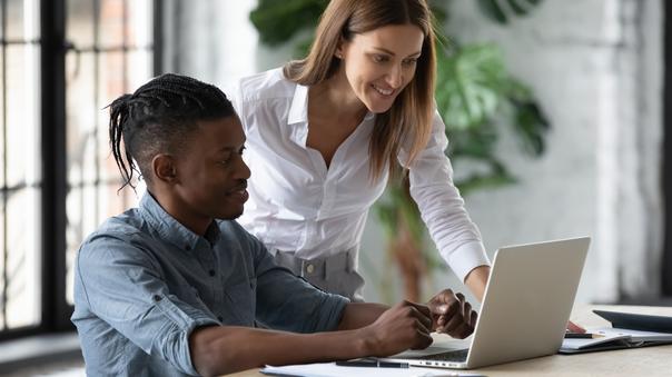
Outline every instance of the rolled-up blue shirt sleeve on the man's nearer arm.
<path fill-rule="evenodd" d="M 128 235 L 92 237 L 76 261 L 76 295 L 88 310 L 141 348 L 178 370 L 198 375 L 189 353 L 189 335 L 199 326 L 218 325 L 207 314 L 170 294 L 157 261 Z"/>

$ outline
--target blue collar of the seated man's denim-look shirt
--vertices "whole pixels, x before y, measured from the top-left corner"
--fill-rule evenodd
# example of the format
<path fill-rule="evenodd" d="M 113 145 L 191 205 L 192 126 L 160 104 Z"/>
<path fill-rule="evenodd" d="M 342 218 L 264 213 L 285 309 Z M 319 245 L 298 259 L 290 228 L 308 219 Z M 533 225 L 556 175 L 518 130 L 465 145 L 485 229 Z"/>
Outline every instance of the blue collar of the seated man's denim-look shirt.
<path fill-rule="evenodd" d="M 219 239 L 220 234 L 217 221 L 213 221 L 206 230 L 205 237 L 201 237 L 166 212 L 149 191 L 142 196 L 139 208 L 145 220 L 161 236 L 161 239 L 181 250 L 195 250 L 201 240 L 213 246 Z"/>

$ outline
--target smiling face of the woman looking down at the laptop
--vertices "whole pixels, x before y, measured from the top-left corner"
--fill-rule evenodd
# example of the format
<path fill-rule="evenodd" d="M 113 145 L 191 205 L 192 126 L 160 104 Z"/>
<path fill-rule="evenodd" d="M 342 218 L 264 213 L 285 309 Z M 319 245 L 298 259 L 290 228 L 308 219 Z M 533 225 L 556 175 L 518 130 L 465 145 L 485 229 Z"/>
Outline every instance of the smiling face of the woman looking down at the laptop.
<path fill-rule="evenodd" d="M 389 110 L 411 82 L 421 56 L 423 31 L 414 24 L 391 24 L 343 41 L 336 51 L 355 96 L 374 112 Z"/>

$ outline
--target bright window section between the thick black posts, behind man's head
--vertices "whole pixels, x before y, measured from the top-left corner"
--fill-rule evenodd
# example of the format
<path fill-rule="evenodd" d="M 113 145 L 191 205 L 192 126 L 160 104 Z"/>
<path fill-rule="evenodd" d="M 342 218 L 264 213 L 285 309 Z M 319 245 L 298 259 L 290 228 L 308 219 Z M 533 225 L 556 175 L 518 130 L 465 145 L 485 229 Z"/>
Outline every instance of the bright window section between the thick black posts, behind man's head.
<path fill-rule="evenodd" d="M 66 147 L 67 279 L 79 245 L 106 218 L 136 204 L 110 155 L 108 112 L 121 93 L 151 77 L 150 0 L 68 0 Z"/>

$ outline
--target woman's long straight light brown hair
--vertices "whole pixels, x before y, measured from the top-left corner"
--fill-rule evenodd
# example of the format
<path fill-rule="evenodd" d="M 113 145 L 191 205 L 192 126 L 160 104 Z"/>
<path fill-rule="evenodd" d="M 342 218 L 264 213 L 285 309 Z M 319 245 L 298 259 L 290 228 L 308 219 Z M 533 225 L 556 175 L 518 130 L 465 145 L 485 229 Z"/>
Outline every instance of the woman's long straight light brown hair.
<path fill-rule="evenodd" d="M 308 57 L 284 67 L 285 77 L 296 83 L 313 86 L 330 78 L 338 69 L 334 57 L 340 38 L 388 24 L 414 24 L 424 33 L 423 49 L 415 76 L 395 99 L 392 108 L 376 115 L 369 142 L 373 179 L 387 167 L 394 171 L 394 160 L 404 140 L 413 140 L 408 168 L 426 147 L 434 115 L 436 56 L 432 12 L 425 0 L 332 0 L 320 17 L 315 41 Z"/>

